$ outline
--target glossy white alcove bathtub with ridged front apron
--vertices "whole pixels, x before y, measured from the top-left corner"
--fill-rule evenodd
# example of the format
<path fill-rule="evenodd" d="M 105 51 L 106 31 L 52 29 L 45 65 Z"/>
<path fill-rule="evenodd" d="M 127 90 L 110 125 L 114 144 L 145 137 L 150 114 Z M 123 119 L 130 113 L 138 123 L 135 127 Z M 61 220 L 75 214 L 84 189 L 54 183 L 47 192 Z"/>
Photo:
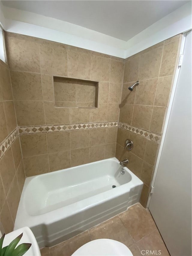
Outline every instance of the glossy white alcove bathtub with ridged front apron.
<path fill-rule="evenodd" d="M 28 177 L 14 229 L 28 226 L 40 248 L 53 246 L 125 211 L 142 187 L 116 158 Z"/>

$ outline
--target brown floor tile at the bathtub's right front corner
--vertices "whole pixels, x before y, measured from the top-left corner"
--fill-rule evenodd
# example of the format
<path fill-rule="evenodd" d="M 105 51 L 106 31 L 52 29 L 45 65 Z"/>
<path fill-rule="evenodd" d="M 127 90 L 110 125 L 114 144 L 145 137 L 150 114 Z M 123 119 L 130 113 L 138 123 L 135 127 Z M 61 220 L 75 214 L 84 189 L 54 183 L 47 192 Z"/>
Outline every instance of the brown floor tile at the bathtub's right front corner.
<path fill-rule="evenodd" d="M 119 217 L 136 242 L 149 235 L 156 228 L 149 211 L 139 203 L 119 214 Z"/>

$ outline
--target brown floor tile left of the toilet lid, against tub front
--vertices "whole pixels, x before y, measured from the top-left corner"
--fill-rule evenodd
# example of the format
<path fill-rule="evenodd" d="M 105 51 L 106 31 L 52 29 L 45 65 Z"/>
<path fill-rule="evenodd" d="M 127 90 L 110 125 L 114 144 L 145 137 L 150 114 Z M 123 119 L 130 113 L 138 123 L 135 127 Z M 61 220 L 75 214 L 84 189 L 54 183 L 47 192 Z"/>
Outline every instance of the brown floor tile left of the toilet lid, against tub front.
<path fill-rule="evenodd" d="M 88 231 L 50 248 L 51 256 L 68 256 L 73 254 L 79 247 L 91 241 Z"/>

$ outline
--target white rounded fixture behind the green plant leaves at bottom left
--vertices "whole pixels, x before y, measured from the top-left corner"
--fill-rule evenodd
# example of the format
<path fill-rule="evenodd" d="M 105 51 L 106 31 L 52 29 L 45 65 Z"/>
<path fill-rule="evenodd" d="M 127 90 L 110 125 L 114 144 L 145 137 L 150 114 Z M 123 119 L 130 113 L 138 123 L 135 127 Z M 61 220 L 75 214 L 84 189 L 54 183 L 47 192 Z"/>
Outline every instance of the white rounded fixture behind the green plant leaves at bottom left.
<path fill-rule="evenodd" d="M 29 227 L 22 227 L 13 232 L 8 233 L 5 235 L 3 240 L 3 247 L 10 244 L 13 239 L 23 233 L 21 240 L 19 241 L 18 245 L 21 243 L 31 243 L 31 247 L 29 250 L 24 254 L 25 256 L 41 256 L 41 252 L 38 246 L 38 243 L 35 239 L 35 236 Z"/>

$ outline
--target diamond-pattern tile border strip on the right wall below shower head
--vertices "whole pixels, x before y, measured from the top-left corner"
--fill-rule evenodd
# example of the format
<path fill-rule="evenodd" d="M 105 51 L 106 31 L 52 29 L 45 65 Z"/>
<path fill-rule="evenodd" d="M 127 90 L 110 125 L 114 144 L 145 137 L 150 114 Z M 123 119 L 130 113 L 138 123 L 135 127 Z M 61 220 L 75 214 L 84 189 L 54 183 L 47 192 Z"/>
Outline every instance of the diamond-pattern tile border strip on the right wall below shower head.
<path fill-rule="evenodd" d="M 159 143 L 160 140 L 161 140 L 161 135 L 160 134 L 154 134 L 150 131 L 146 131 L 146 130 L 143 130 L 143 129 L 140 129 L 140 128 L 136 128 L 136 127 L 133 127 L 131 125 L 128 125 L 128 124 L 125 124 L 125 123 L 121 123 L 119 122 L 119 125 L 118 125 L 120 128 L 122 129 L 125 129 L 125 130 L 128 130 L 128 131 L 132 131 L 136 134 L 139 134 L 140 136 L 143 136 L 145 137 L 147 140 L 152 140 L 156 143 Z"/>

